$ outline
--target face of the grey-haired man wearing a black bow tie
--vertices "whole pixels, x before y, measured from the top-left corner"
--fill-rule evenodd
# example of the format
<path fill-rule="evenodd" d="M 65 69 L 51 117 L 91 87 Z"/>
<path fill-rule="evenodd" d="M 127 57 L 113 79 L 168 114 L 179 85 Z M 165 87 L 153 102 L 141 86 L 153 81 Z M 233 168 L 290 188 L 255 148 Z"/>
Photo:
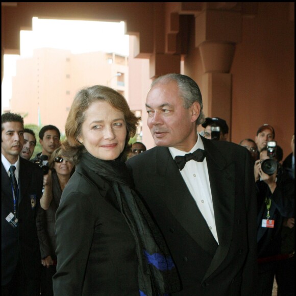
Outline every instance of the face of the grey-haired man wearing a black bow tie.
<path fill-rule="evenodd" d="M 185 109 L 178 93 L 175 81 L 150 89 L 146 98 L 147 125 L 157 146 L 188 152 L 197 140 L 195 120 L 201 108 L 195 102 Z"/>

